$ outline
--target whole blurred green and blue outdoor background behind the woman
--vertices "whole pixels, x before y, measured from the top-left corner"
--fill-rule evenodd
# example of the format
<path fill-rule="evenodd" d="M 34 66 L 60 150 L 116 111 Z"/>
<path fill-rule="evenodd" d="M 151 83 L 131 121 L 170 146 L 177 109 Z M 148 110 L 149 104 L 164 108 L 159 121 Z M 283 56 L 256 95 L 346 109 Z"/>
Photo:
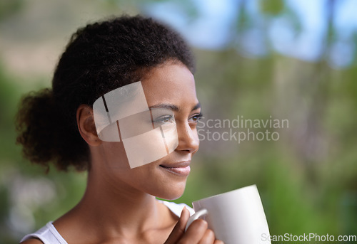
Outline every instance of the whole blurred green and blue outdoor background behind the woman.
<path fill-rule="evenodd" d="M 0 243 L 61 216 L 86 184 L 86 173 L 45 174 L 21 157 L 19 99 L 49 87 L 76 28 L 124 13 L 190 43 L 206 121 L 288 120 L 268 128 L 276 141 L 203 139 L 177 202 L 256 184 L 272 235 L 357 235 L 355 0 L 0 0 Z"/>

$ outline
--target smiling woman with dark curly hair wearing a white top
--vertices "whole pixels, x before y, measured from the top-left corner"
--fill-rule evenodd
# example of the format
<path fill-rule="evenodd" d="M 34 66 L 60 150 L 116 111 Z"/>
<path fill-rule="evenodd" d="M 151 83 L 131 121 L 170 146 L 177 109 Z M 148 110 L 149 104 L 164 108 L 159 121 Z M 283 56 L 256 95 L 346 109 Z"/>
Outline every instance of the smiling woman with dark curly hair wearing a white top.
<path fill-rule="evenodd" d="M 17 140 L 31 161 L 47 167 L 51 161 L 60 170 L 70 166 L 87 170 L 87 187 L 77 206 L 26 235 L 22 243 L 221 243 L 202 220 L 184 231 L 191 208 L 155 198 L 182 195 L 198 150 L 196 123 L 201 108 L 193 71 L 193 58 L 183 39 L 151 18 L 122 16 L 74 33 L 56 67 L 52 90 L 22 100 Z M 143 104 L 148 107 L 144 112 L 151 116 L 153 133 L 160 129 L 162 137 L 156 133 L 156 139 L 127 146 L 138 133 L 125 137 L 129 132 L 124 133 L 121 119 L 127 117 L 123 114 L 141 115 L 132 112 L 137 109 L 133 105 L 138 93 L 125 88 L 134 84 L 144 91 Z M 122 100 L 123 91 L 129 102 Z M 119 93 L 110 98 L 113 92 Z M 103 101 L 105 110 L 96 110 Z M 109 107 L 111 102 L 114 107 Z M 154 109 L 166 112 L 154 117 Z M 113 110 L 122 115 L 116 120 L 117 140 L 111 139 L 115 133 L 104 133 L 100 127 L 103 112 L 108 114 L 108 124 L 116 126 L 110 117 Z M 131 120 L 134 132 L 142 129 L 138 121 Z M 176 137 L 165 137 L 162 128 L 167 124 Z M 165 142 L 165 156 L 156 146 L 159 137 Z M 138 144 L 143 151 L 133 153 Z M 138 163 L 134 159 L 143 152 L 149 156 Z"/>

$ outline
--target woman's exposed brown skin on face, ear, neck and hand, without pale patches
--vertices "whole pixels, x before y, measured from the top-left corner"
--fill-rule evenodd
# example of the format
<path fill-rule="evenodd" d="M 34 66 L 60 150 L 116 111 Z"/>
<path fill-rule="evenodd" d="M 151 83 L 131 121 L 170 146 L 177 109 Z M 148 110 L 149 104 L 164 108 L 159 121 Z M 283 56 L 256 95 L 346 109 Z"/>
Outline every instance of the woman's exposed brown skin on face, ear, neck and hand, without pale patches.
<path fill-rule="evenodd" d="M 162 159 L 130 169 L 122 142 L 101 141 L 91 107 L 81 105 L 77 124 L 91 152 L 87 188 L 79 204 L 54 226 L 69 244 L 222 244 L 203 220 L 194 221 L 185 233 L 188 210 L 184 208 L 178 218 L 155 198 L 179 198 L 186 187 L 187 176 L 160 165 L 191 161 L 198 150 L 196 124 L 201 108 L 192 73 L 181 63 L 166 62 L 149 71 L 141 83 L 149 107 L 173 107 L 178 147 Z M 42 242 L 24 242 L 31 243 Z"/>

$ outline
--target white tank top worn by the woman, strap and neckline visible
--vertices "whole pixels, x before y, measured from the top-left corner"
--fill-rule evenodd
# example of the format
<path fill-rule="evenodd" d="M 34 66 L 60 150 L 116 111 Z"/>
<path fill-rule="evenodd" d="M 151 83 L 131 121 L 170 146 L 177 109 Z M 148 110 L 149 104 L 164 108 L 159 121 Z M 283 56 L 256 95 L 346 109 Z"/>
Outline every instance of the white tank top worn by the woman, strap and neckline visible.
<path fill-rule="evenodd" d="M 178 217 L 181 216 L 181 211 L 183 207 L 186 207 L 188 211 L 190 211 L 191 215 L 194 213 L 193 208 L 187 206 L 185 203 L 173 203 L 161 200 L 158 201 L 164 203 L 170 209 L 170 211 Z M 25 235 L 24 238 L 21 239 L 21 242 L 31 238 L 38 238 L 44 244 L 68 244 L 66 240 L 64 240 L 64 238 L 56 230 L 52 222 L 46 223 L 46 226 L 37 230 L 35 233 Z"/>

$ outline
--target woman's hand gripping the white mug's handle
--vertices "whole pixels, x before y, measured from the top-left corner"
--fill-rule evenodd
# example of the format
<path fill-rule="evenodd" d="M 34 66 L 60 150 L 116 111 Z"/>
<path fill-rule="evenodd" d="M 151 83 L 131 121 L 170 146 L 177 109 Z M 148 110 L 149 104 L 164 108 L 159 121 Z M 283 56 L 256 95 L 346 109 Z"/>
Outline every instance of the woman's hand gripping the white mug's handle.
<path fill-rule="evenodd" d="M 213 231 L 208 229 L 208 223 L 201 219 L 193 221 L 185 232 L 188 218 L 190 213 L 183 208 L 180 219 L 164 244 L 224 244 L 216 240 Z"/>

